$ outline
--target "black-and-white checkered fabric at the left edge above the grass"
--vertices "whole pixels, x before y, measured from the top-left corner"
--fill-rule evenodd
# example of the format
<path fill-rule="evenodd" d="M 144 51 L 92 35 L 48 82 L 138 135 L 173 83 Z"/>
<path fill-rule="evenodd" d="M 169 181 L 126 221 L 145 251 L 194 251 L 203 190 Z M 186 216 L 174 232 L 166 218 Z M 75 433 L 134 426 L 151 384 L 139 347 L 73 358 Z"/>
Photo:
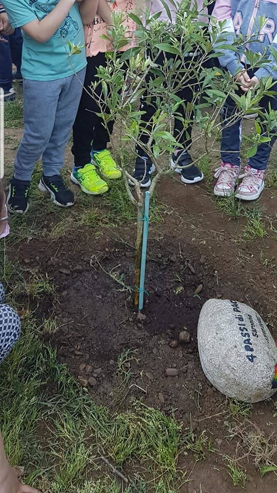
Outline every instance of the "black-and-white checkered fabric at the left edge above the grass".
<path fill-rule="evenodd" d="M 0 283 L 0 364 L 13 348 L 21 330 L 17 313 L 9 305 L 3 305 L 4 297 L 4 288 Z"/>

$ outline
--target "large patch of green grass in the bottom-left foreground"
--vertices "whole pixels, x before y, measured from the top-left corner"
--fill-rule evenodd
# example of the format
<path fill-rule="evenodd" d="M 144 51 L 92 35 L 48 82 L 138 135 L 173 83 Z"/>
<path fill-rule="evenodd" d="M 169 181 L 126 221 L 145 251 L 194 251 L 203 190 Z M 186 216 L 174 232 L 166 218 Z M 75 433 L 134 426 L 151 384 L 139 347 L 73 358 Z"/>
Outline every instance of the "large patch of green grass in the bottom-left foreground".
<path fill-rule="evenodd" d="M 162 478 L 165 492 L 177 482 L 181 424 L 136 401 L 121 414 L 96 406 L 42 342 L 35 319 L 23 319 L 22 337 L 0 368 L 0 393 L 7 455 L 24 467 L 26 482 L 49 493 L 116 491 L 118 482 L 100 460 L 104 453 L 122 471 L 135 464 L 141 491 L 146 480 L 155 485 Z"/>

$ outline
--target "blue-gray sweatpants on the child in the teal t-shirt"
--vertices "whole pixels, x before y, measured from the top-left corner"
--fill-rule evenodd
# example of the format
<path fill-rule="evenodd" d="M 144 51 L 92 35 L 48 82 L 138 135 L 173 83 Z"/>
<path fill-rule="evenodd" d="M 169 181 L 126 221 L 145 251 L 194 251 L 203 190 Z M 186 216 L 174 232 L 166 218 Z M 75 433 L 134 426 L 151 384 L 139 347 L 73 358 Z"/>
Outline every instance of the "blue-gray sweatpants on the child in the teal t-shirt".
<path fill-rule="evenodd" d="M 17 180 L 30 181 L 41 157 L 45 176 L 60 175 L 85 73 L 86 68 L 57 81 L 24 79 L 25 128 L 14 160 Z"/>

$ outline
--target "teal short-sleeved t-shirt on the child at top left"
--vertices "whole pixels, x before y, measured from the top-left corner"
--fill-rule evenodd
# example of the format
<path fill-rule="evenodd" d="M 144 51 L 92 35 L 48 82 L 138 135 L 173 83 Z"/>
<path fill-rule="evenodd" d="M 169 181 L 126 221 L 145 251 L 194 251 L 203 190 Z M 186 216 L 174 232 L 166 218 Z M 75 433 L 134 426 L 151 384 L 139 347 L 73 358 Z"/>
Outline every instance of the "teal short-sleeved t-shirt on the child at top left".
<path fill-rule="evenodd" d="M 58 0 L 2 0 L 13 28 L 35 19 L 41 21 Z M 38 43 L 24 31 L 22 75 L 33 81 L 52 81 L 69 77 L 86 66 L 84 27 L 75 3 L 64 22 L 46 43 Z M 80 43 L 81 53 L 69 56 L 68 41 Z"/>

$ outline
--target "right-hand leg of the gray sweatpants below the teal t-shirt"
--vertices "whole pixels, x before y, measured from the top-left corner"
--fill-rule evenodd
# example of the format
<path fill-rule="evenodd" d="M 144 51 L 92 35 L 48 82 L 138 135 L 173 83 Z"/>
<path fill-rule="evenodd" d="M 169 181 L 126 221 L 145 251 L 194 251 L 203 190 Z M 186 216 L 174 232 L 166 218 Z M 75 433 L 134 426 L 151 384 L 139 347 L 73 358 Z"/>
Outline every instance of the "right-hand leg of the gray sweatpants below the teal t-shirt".
<path fill-rule="evenodd" d="M 82 94 L 85 70 L 63 80 L 57 100 L 54 125 L 42 157 L 43 174 L 46 177 L 60 175 L 63 167 L 66 144 Z"/>

